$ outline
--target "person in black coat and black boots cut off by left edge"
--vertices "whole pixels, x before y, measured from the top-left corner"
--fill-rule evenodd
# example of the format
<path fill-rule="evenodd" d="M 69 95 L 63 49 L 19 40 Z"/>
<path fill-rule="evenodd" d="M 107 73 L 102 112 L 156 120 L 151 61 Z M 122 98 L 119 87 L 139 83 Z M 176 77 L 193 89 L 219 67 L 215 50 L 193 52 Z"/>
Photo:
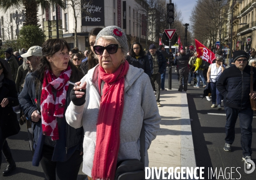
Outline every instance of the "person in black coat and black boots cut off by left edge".
<path fill-rule="evenodd" d="M 19 129 L 15 131 L 13 122 L 17 122 L 17 114 L 12 110 L 13 106 L 19 105 L 18 94 L 15 88 L 15 82 L 9 80 L 8 71 L 0 61 L 0 152 L 3 152 L 8 163 L 7 168 L 3 170 L 3 176 L 7 176 L 16 164 L 12 159 L 12 153 L 6 141 L 6 137 L 17 134 Z M 19 124 L 17 122 L 17 128 Z M 2 163 L 2 154 L 0 154 L 0 167 Z"/>

